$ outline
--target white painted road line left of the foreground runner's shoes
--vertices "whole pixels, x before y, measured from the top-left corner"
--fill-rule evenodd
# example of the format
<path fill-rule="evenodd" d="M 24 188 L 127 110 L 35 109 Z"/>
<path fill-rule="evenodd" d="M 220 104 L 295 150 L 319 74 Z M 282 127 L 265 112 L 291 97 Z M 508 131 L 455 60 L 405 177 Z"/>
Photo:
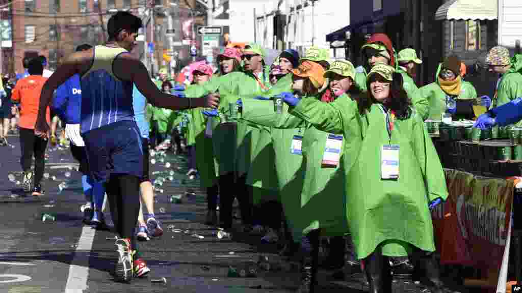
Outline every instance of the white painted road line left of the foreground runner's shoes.
<path fill-rule="evenodd" d="M 81 236 L 78 240 L 73 262 L 69 266 L 69 276 L 67 277 L 67 285 L 65 293 L 78 293 L 87 289 L 87 277 L 89 276 L 89 256 L 86 252 L 92 248 L 92 241 L 96 230 L 84 226 L 81 229 Z M 82 253 L 78 253 L 81 251 Z"/>

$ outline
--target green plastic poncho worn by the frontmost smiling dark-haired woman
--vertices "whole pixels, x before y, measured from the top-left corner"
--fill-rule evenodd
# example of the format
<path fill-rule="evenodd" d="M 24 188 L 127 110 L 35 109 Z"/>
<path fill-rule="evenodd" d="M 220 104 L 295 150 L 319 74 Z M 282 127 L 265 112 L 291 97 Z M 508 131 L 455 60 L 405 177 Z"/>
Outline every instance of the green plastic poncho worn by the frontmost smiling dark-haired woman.
<path fill-rule="evenodd" d="M 346 100 L 345 100 L 346 101 Z M 383 254 L 405 256 L 409 245 L 434 251 L 429 202 L 447 198 L 445 177 L 422 118 L 415 112 L 395 120 L 388 135 L 381 105 L 359 114 L 357 103 L 321 103 L 305 98 L 290 113 L 315 128 L 342 134 L 343 173 L 348 226 L 359 259 L 378 245 Z M 399 145 L 399 178 L 381 179 L 381 148 Z"/>

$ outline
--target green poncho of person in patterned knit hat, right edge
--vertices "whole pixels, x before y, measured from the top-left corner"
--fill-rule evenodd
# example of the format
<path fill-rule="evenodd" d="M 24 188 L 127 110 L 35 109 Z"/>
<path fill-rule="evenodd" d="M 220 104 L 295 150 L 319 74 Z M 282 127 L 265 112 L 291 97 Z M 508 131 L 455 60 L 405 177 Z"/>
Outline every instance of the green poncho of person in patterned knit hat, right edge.
<path fill-rule="evenodd" d="M 520 96 L 522 96 L 522 55 L 517 54 L 511 59 L 511 68 L 499 82 L 493 107 L 502 106 Z"/>

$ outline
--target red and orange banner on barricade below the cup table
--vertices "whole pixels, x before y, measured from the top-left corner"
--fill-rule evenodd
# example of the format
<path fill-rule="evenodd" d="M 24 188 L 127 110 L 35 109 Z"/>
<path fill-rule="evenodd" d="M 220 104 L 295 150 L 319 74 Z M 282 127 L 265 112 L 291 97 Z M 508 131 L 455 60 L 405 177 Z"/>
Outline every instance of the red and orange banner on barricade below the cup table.
<path fill-rule="evenodd" d="M 506 245 L 514 180 L 445 169 L 447 201 L 432 211 L 442 264 L 500 270 Z"/>

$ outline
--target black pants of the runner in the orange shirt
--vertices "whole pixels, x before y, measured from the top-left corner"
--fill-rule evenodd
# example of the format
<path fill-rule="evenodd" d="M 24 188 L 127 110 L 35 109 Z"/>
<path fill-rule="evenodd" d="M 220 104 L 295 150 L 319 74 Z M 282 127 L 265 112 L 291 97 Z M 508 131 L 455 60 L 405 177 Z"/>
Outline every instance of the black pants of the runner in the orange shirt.
<path fill-rule="evenodd" d="M 20 164 L 23 172 L 31 169 L 32 156 L 34 155 L 34 185 L 40 184 L 45 167 L 45 148 L 47 141 L 34 135 L 33 129 L 20 128 L 21 158 Z"/>

